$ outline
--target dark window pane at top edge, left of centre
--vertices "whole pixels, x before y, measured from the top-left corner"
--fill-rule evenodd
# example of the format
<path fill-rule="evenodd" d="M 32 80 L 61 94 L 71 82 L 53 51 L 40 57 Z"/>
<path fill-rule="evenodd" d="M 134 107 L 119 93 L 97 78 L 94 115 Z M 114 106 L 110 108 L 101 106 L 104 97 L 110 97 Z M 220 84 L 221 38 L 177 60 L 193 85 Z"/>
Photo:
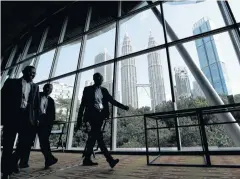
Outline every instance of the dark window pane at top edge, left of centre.
<path fill-rule="evenodd" d="M 92 4 L 92 15 L 89 29 L 100 24 L 111 21 L 117 17 L 118 2 L 117 1 L 94 1 Z M 99 8 L 101 7 L 101 8 Z M 109 8 L 111 7 L 111 8 Z"/>

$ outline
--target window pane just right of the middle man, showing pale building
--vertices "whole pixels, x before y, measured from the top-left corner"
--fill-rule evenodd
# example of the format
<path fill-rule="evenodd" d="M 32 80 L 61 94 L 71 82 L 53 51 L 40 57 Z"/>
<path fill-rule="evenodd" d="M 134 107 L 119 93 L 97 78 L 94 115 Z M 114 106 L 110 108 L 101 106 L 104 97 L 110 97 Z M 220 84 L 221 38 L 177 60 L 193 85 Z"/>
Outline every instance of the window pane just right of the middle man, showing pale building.
<path fill-rule="evenodd" d="M 61 78 L 56 81 L 52 81 L 53 92 L 51 97 L 55 101 L 56 108 L 56 121 L 68 121 L 70 115 L 70 107 L 73 94 L 73 85 L 74 85 L 75 75 Z M 53 125 L 53 130 L 63 130 L 65 133 L 62 136 L 63 145 L 66 146 L 66 131 L 68 129 L 68 124 L 66 125 Z M 59 140 L 58 135 L 51 135 L 50 142 L 51 146 L 56 147 Z"/>

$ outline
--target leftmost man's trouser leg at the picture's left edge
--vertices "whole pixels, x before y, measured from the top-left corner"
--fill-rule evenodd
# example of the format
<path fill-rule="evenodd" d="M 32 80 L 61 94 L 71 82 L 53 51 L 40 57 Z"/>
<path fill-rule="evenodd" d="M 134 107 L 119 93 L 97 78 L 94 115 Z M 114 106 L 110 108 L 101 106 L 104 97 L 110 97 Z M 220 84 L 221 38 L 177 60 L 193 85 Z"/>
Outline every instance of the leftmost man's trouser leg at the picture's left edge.
<path fill-rule="evenodd" d="M 17 131 L 14 126 L 5 125 L 3 127 L 3 150 L 1 158 L 1 171 L 3 175 L 10 175 L 13 172 L 12 152 L 16 134 Z"/>

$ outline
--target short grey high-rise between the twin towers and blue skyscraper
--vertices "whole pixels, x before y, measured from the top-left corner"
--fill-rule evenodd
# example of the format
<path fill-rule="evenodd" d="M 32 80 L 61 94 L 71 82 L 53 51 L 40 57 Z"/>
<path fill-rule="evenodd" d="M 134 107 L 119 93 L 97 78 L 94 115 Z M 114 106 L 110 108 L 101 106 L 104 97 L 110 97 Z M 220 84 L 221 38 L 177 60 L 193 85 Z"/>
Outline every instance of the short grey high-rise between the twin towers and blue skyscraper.
<path fill-rule="evenodd" d="M 188 73 L 185 67 L 176 67 L 175 71 L 175 80 L 176 80 L 176 90 L 177 90 L 177 99 L 181 97 L 190 97 L 191 96 L 191 87 L 189 82 Z"/>

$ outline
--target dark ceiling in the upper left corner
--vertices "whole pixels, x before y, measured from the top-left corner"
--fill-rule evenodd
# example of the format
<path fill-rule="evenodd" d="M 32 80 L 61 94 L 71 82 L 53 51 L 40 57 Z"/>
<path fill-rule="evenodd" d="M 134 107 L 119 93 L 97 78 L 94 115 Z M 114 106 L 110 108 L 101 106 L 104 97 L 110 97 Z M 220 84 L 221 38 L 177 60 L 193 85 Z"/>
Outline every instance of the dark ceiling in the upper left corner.
<path fill-rule="evenodd" d="M 2 53 L 36 22 L 72 3 L 71 1 L 1 1 Z"/>

